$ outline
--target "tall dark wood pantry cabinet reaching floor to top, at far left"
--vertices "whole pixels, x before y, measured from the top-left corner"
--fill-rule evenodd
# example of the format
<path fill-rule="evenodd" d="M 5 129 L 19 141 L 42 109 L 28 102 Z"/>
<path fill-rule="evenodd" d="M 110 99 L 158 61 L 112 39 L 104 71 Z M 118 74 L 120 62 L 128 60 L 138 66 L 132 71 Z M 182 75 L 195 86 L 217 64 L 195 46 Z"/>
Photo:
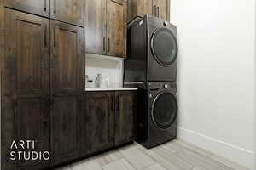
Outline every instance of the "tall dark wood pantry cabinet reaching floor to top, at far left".
<path fill-rule="evenodd" d="M 37 170 L 82 155 L 84 46 L 84 1 L 0 0 L 2 169 Z M 35 147 L 11 149 L 14 140 Z M 12 161 L 10 151 L 20 150 L 49 151 L 51 161 Z"/>

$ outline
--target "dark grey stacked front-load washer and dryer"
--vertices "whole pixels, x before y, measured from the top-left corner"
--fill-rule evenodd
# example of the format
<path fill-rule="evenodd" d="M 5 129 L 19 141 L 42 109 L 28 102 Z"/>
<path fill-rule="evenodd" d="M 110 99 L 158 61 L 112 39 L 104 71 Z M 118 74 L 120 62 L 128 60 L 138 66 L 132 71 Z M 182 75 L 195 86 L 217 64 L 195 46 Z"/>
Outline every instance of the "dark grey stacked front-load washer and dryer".
<path fill-rule="evenodd" d="M 127 32 L 125 87 L 137 87 L 137 143 L 152 148 L 177 137 L 177 28 L 151 15 Z"/>

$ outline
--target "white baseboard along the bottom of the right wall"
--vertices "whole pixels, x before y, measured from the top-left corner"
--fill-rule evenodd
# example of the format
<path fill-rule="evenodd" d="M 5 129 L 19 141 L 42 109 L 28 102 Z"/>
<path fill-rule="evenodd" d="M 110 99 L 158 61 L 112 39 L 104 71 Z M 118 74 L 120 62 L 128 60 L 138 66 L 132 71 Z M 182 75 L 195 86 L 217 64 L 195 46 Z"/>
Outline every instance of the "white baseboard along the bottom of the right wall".
<path fill-rule="evenodd" d="M 230 161 L 234 161 L 253 170 L 253 151 L 242 149 L 236 145 L 224 143 L 218 139 L 212 139 L 211 137 L 190 131 L 183 127 L 178 127 L 177 135 L 179 139 L 183 139 L 190 144 L 195 144 L 205 150 L 211 151 L 218 156 L 223 156 Z"/>

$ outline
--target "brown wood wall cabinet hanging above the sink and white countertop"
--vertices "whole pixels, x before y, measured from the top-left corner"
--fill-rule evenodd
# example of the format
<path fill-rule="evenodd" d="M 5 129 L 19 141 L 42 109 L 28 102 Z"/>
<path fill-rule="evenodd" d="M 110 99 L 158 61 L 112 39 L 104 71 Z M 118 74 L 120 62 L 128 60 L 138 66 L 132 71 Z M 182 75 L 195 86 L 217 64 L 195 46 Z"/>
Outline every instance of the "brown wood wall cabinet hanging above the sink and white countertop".
<path fill-rule="evenodd" d="M 126 7 L 123 0 L 87 0 L 86 52 L 126 56 Z"/>

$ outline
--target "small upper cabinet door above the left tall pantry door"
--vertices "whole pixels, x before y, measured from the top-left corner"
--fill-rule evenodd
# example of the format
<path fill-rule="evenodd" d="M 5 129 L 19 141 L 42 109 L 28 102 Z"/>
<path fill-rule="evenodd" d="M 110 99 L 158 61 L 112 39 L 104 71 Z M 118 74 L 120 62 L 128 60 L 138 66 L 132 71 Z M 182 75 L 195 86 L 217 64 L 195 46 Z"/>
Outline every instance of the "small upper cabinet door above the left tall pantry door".
<path fill-rule="evenodd" d="M 49 0 L 5 0 L 5 6 L 49 17 Z"/>

